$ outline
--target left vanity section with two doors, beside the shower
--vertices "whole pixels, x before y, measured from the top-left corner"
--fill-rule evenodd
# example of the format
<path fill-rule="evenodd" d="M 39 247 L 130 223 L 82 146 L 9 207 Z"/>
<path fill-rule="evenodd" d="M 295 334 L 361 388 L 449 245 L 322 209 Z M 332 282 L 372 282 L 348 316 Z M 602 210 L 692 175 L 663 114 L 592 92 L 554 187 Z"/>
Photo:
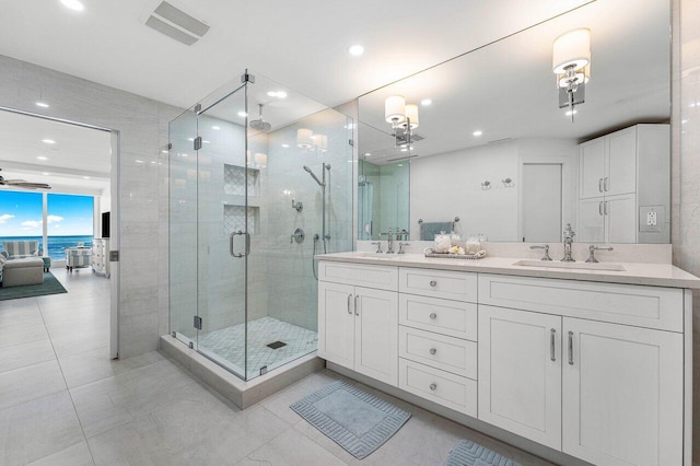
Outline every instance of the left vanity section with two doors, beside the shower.
<path fill-rule="evenodd" d="M 330 269 L 329 269 L 330 268 Z M 398 377 L 398 295 L 396 268 L 365 270 L 366 267 L 319 265 L 318 356 L 389 385 Z M 334 272 L 338 275 L 334 276 Z M 374 289 L 322 281 L 362 281 L 381 276 Z M 393 280 L 392 280 L 393 277 Z M 390 290 L 392 282 L 394 290 Z"/>

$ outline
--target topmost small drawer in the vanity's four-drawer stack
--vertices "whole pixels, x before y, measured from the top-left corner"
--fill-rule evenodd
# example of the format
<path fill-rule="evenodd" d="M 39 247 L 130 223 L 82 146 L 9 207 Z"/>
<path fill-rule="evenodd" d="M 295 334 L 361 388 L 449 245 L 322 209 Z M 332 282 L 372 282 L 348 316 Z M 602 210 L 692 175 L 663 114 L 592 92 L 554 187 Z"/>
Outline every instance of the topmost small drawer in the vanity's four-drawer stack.
<path fill-rule="evenodd" d="M 399 291 L 457 301 L 477 301 L 477 275 L 401 267 Z"/>

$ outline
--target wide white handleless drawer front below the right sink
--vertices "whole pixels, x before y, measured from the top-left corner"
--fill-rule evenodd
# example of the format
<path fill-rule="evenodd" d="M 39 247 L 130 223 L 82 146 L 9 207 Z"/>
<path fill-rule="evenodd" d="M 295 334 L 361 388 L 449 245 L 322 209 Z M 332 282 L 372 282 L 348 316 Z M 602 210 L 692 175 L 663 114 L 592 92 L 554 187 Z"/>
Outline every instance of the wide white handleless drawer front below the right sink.
<path fill-rule="evenodd" d="M 479 303 L 682 331 L 682 290 L 675 288 L 480 273 Z"/>

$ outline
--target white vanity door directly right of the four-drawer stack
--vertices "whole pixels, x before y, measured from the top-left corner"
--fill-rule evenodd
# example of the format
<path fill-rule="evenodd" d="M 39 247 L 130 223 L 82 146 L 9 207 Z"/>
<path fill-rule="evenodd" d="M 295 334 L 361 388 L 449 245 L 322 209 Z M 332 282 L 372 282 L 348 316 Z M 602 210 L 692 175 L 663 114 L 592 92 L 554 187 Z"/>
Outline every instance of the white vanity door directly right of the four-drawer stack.
<path fill-rule="evenodd" d="M 479 419 L 561 448 L 561 317 L 479 305 Z"/>

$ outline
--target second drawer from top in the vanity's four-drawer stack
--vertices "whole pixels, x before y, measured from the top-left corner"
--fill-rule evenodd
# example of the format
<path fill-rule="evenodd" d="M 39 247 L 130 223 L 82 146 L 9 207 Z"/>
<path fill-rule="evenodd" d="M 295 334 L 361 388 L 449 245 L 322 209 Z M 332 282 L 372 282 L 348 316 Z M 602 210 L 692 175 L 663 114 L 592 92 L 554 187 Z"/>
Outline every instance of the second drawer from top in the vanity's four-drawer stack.
<path fill-rule="evenodd" d="M 477 340 L 477 305 L 474 303 L 400 293 L 398 321 L 409 327 Z"/>

